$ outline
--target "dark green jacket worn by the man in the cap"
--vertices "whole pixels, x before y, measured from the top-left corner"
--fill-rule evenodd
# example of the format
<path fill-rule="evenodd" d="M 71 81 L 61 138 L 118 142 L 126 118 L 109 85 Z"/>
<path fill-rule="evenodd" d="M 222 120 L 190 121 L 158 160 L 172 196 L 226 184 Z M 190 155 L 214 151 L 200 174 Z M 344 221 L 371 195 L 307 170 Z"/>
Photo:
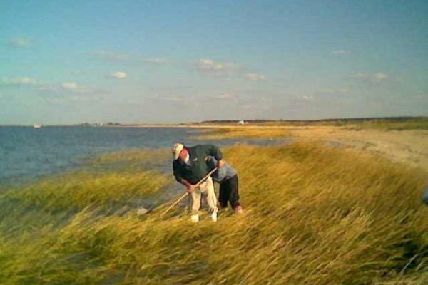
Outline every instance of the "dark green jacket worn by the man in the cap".
<path fill-rule="evenodd" d="M 195 145 L 194 147 L 185 148 L 189 152 L 190 165 L 180 162 L 179 159 L 173 161 L 175 180 L 180 183 L 182 179 L 185 179 L 195 185 L 210 172 L 205 162 L 205 157 L 213 156 L 216 160 L 223 159 L 223 154 L 215 145 Z"/>

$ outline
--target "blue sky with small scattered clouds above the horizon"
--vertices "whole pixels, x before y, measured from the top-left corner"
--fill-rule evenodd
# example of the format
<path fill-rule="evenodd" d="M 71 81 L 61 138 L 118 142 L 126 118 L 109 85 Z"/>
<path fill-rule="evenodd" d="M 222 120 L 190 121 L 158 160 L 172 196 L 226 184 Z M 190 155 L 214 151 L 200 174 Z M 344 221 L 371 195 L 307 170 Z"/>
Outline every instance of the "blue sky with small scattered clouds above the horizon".
<path fill-rule="evenodd" d="M 428 115 L 428 1 L 0 1 L 0 125 Z"/>

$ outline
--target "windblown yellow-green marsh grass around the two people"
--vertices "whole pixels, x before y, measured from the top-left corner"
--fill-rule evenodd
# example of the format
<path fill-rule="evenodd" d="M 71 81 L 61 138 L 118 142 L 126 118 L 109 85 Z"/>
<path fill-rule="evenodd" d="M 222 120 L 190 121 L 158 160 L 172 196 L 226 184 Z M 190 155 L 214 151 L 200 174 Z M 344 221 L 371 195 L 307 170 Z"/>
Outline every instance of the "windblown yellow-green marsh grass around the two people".
<path fill-rule="evenodd" d="M 75 173 L 1 194 L 0 284 L 428 280 L 422 170 L 302 142 L 229 147 L 225 157 L 238 170 L 245 213 L 223 212 L 215 224 L 205 214 L 191 224 L 180 208 L 163 219 L 162 207 L 142 217 L 108 212 L 108 204 L 170 182 L 126 170 L 138 155 L 148 160 L 138 151 L 111 154 L 93 163 L 114 162 L 121 171 Z"/>

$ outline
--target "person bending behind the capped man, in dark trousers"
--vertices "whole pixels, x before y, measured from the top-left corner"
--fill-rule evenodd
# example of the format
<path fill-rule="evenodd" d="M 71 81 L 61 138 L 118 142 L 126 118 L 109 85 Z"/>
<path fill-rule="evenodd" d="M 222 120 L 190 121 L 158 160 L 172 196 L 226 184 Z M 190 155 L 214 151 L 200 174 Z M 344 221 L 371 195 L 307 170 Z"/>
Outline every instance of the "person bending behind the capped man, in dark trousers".
<path fill-rule="evenodd" d="M 205 157 L 205 160 L 210 170 L 213 170 L 218 166 L 218 162 L 215 160 L 215 157 Z M 239 202 L 238 174 L 235 168 L 231 167 L 228 163 L 224 163 L 223 167 L 218 168 L 211 177 L 213 177 L 215 182 L 220 184 L 218 195 L 220 207 L 222 209 L 228 207 L 229 202 L 230 207 L 232 207 L 237 214 L 242 214 L 243 207 L 241 207 Z"/>

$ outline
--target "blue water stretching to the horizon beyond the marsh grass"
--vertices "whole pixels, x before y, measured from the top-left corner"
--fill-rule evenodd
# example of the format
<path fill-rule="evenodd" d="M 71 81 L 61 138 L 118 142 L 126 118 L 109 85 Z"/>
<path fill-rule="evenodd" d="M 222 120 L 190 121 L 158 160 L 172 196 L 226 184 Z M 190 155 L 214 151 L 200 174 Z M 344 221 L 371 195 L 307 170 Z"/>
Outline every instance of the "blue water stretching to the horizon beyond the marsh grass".
<path fill-rule="evenodd" d="M 16 185 L 44 175 L 72 170 L 104 152 L 169 149 L 187 145 L 236 143 L 269 145 L 284 140 L 201 141 L 197 128 L 0 127 L 0 185 Z M 169 151 L 169 150 L 168 150 Z"/>

